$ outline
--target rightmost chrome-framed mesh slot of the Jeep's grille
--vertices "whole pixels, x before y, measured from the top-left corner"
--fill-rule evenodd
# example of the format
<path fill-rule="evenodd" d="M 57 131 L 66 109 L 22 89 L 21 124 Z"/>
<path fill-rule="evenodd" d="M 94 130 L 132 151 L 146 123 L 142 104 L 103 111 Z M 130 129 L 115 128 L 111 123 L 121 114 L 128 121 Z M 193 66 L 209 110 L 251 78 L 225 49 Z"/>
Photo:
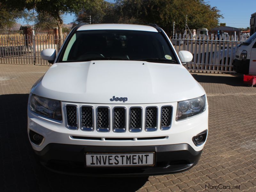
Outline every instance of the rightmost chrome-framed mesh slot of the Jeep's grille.
<path fill-rule="evenodd" d="M 161 130 L 168 130 L 172 123 L 172 106 L 163 106 L 161 108 Z"/>

